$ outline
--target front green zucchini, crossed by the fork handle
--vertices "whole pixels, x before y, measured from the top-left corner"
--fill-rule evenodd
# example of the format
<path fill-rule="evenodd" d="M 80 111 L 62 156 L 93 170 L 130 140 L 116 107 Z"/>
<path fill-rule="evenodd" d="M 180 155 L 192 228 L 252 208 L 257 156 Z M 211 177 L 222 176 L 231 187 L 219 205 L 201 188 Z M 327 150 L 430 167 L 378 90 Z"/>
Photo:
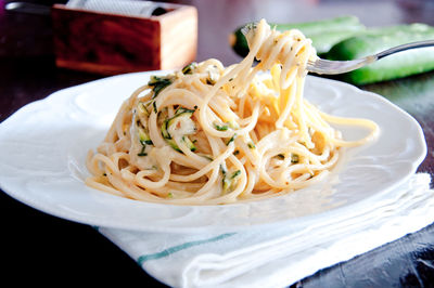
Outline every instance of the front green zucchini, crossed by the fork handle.
<path fill-rule="evenodd" d="M 323 57 L 346 61 L 372 55 L 399 44 L 434 39 L 434 27 L 424 24 L 373 28 L 335 44 Z M 413 49 L 384 57 L 376 63 L 339 78 L 354 84 L 367 84 L 407 77 L 434 69 L 433 49 Z"/>

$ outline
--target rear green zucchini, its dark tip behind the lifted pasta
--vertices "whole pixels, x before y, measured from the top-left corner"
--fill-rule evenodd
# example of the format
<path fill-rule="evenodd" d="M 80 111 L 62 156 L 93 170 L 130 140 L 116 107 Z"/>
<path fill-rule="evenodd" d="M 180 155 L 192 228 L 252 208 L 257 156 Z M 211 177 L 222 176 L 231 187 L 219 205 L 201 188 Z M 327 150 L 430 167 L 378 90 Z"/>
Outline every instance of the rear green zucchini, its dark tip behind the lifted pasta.
<path fill-rule="evenodd" d="M 247 41 L 241 32 L 244 26 L 238 28 L 230 37 L 232 49 L 243 57 L 248 53 Z M 318 54 L 328 52 L 333 44 L 366 29 L 355 16 L 293 24 L 270 24 L 270 26 L 276 27 L 279 31 L 299 29 L 307 38 L 312 40 L 312 45 Z"/>

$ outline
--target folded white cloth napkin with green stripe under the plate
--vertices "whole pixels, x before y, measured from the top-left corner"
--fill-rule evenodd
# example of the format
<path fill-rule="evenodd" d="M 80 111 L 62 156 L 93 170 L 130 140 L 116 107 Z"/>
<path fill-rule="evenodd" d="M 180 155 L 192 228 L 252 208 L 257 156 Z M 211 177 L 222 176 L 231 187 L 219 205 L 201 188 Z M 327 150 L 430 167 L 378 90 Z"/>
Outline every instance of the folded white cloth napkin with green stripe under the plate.
<path fill-rule="evenodd" d="M 173 287 L 284 287 L 434 222 L 430 175 L 417 173 L 388 200 L 294 232 L 228 234 L 99 231 Z"/>

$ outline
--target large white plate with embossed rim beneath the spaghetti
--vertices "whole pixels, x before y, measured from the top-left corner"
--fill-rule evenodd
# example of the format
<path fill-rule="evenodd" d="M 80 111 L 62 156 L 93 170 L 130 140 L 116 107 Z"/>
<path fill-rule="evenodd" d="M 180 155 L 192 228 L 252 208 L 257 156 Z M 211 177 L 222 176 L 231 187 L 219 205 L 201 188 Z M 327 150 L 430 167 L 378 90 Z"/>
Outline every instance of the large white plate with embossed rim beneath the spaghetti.
<path fill-rule="evenodd" d="M 268 200 L 203 207 L 141 202 L 87 187 L 87 152 L 99 145 L 122 102 L 149 76 L 128 74 L 68 88 L 4 120 L 1 188 L 41 211 L 99 226 L 221 232 L 283 222 L 295 227 L 379 200 L 414 173 L 426 154 L 422 130 L 407 113 L 373 93 L 309 76 L 306 97 L 323 112 L 369 118 L 381 129 L 375 143 L 347 152 L 337 181 Z M 347 139 L 366 134 L 341 129 Z"/>

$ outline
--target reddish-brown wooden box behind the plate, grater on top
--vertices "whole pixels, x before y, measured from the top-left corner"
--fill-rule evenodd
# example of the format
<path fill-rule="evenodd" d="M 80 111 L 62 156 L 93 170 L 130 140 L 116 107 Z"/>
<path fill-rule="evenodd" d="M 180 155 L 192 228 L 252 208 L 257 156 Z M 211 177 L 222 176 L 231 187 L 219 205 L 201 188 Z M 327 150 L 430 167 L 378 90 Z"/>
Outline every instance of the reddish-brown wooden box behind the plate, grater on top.
<path fill-rule="evenodd" d="M 115 75 L 191 63 L 197 50 L 197 11 L 168 5 L 159 16 L 138 17 L 55 4 L 51 13 L 56 65 Z"/>

